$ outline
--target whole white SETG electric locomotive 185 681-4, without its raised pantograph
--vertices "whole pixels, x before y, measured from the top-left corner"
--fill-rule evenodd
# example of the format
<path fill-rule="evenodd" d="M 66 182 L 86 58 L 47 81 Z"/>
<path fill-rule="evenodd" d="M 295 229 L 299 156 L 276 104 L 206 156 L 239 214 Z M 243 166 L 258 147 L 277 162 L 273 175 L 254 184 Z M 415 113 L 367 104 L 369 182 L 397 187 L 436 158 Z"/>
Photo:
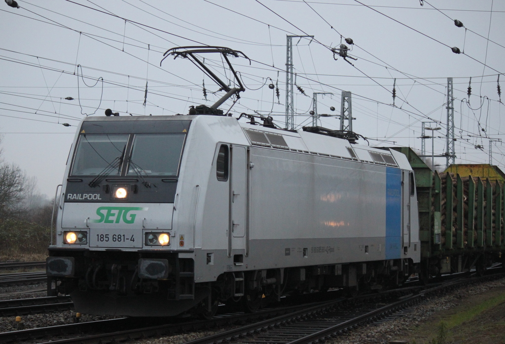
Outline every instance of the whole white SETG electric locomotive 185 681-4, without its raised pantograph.
<path fill-rule="evenodd" d="M 218 302 L 398 284 L 420 252 L 402 153 L 228 116 L 88 117 L 48 293 L 82 313 L 210 316 Z"/>

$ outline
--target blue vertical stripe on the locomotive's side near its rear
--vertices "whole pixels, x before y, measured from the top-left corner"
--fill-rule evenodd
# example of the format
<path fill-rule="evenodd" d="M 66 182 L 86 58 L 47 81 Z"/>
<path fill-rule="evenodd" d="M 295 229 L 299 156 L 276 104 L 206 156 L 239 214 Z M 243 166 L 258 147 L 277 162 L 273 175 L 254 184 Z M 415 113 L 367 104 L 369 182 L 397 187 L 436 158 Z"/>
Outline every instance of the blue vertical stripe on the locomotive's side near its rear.
<path fill-rule="evenodd" d="M 401 253 L 401 169 L 386 167 L 386 259 Z"/>

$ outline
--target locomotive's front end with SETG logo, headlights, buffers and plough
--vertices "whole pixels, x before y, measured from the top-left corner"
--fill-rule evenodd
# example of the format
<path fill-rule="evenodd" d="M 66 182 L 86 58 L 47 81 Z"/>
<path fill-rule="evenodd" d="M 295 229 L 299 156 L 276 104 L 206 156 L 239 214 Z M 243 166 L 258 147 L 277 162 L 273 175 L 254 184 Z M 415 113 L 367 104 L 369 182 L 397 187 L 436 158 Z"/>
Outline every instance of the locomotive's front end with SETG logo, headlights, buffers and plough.
<path fill-rule="evenodd" d="M 56 245 L 49 248 L 49 295 L 71 294 L 76 308 L 95 314 L 110 313 L 102 307 L 111 307 L 111 298 L 120 305 L 117 298 L 141 296 L 133 313 L 121 306 L 113 311 L 128 315 L 160 315 L 148 306 L 160 299 L 194 300 L 192 261 L 175 253 L 192 248 L 172 227 L 190 124 L 118 117 L 81 123 L 67 163 Z"/>

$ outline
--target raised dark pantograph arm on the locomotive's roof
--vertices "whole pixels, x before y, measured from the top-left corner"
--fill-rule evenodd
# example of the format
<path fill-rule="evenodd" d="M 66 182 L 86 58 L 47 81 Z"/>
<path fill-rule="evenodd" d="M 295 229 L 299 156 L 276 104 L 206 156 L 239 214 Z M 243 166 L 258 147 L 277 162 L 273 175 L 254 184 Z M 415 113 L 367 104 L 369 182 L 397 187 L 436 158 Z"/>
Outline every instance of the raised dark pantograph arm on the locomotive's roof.
<path fill-rule="evenodd" d="M 233 73 L 233 76 L 235 77 L 235 81 L 239 87 L 230 87 L 226 83 L 224 83 L 216 74 L 214 74 L 202 61 L 198 59 L 198 57 L 195 54 L 200 54 L 200 53 L 211 53 L 211 52 L 218 52 L 220 53 L 226 63 L 228 64 L 228 67 L 230 68 L 230 71 Z M 221 104 L 223 104 L 226 100 L 228 100 L 233 94 L 237 95 L 237 98 L 235 101 L 237 101 L 240 96 L 239 92 L 245 91 L 244 86 L 242 85 L 242 82 L 240 81 L 240 78 L 238 77 L 237 73 L 233 69 L 233 66 L 230 63 L 230 60 L 228 60 L 228 55 L 235 56 L 235 58 L 239 58 L 240 55 L 242 55 L 243 58 L 249 60 L 249 65 L 250 65 L 250 59 L 242 52 L 239 50 L 233 50 L 224 46 L 179 46 L 176 48 L 171 48 L 165 51 L 163 56 L 165 56 L 161 62 L 160 66 L 163 63 L 163 60 L 165 60 L 169 55 L 174 55 L 174 60 L 178 57 L 181 56 L 182 58 L 187 58 L 189 59 L 196 67 L 198 67 L 202 72 L 204 72 L 207 76 L 209 76 L 212 80 L 214 80 L 222 90 L 226 91 L 227 93 L 222 96 L 218 101 L 216 101 L 211 108 L 212 109 L 217 109 Z M 233 103 L 235 103 L 235 101 Z M 233 105 L 232 105 L 233 106 Z"/>

